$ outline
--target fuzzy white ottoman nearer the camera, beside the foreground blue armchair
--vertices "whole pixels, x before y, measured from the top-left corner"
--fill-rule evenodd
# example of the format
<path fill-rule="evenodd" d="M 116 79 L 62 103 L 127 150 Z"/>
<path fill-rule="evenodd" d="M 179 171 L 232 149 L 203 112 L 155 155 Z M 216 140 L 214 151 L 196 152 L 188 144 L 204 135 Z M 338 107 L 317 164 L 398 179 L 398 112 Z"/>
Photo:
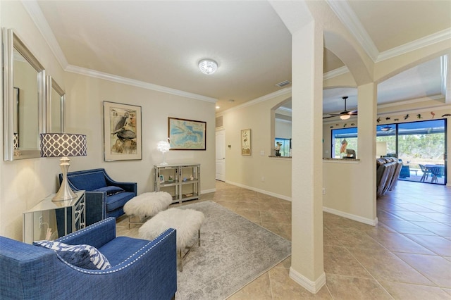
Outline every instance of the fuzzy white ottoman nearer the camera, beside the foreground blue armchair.
<path fill-rule="evenodd" d="M 167 211 L 161 211 L 154 218 L 148 220 L 138 230 L 142 239 L 154 239 L 161 235 L 161 232 L 168 228 L 177 230 L 177 252 L 179 254 L 179 268 L 183 270 L 183 259 L 190 253 L 194 244 L 188 246 L 196 234 L 200 246 L 200 227 L 204 223 L 204 213 L 194 211 L 194 209 L 169 208 Z M 188 251 L 183 254 L 183 250 Z"/>

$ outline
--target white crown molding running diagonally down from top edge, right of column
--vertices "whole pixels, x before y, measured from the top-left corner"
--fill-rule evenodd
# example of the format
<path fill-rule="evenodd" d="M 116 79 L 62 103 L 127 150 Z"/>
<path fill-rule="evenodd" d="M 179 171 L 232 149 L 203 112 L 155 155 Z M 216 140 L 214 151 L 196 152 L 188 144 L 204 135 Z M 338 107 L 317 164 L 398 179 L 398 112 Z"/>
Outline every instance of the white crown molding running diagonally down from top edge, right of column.
<path fill-rule="evenodd" d="M 373 61 L 376 61 L 379 51 L 371 37 L 369 37 L 369 34 L 366 32 L 362 23 L 360 23 L 359 18 L 357 18 L 357 15 L 355 15 L 354 11 L 352 11 L 352 8 L 347 4 L 347 2 L 335 0 L 326 0 L 326 2 L 345 27 L 347 27 L 352 35 L 354 35 L 360 45 L 362 45 L 366 51 L 366 54 L 368 54 Z"/>

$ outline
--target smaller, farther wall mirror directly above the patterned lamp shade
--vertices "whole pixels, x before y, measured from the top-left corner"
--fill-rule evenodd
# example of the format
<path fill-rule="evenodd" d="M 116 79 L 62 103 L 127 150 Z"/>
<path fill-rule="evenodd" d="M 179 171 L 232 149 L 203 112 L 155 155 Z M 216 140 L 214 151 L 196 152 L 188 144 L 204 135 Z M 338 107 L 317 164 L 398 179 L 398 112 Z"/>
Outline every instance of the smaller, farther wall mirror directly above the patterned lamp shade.
<path fill-rule="evenodd" d="M 66 93 L 47 76 L 47 132 L 66 132 Z"/>

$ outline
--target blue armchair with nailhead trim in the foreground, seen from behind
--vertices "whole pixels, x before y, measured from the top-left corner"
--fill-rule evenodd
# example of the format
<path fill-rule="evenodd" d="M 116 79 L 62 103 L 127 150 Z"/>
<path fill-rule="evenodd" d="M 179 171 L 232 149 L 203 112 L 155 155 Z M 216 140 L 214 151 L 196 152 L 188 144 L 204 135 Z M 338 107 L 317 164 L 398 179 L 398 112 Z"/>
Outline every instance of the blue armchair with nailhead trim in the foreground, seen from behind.
<path fill-rule="evenodd" d="M 0 237 L 0 299 L 173 299 L 177 291 L 175 230 L 152 241 L 116 237 L 108 218 L 57 242 L 89 244 L 111 263 L 87 270 L 55 251 Z"/>

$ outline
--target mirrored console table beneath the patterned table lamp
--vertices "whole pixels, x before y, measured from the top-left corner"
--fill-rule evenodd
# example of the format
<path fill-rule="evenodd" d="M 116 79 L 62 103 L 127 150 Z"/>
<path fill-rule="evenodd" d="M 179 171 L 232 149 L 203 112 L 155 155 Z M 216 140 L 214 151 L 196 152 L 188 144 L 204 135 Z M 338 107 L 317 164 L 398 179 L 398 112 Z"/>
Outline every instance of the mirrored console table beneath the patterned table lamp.
<path fill-rule="evenodd" d="M 23 213 L 23 242 L 57 239 L 85 227 L 85 191 L 75 192 L 74 199 L 51 201 L 47 196 Z"/>

